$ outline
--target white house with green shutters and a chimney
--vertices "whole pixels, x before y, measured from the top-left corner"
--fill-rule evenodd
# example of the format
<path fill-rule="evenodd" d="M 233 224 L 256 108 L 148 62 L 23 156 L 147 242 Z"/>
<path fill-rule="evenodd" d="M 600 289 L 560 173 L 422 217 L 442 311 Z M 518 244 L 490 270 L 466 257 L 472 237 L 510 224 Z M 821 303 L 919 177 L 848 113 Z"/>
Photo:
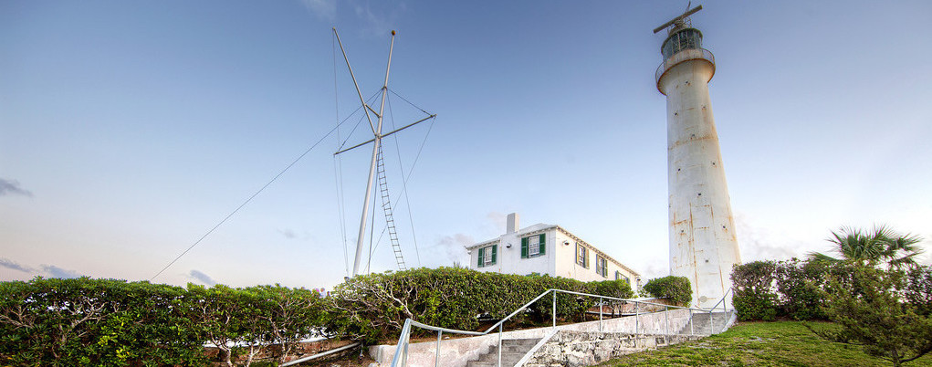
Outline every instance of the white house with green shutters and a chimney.
<path fill-rule="evenodd" d="M 466 247 L 469 267 L 504 274 L 549 274 L 582 281 L 626 279 L 640 288 L 640 274 L 554 224 L 518 229 L 518 215 L 508 214 L 506 233 Z"/>

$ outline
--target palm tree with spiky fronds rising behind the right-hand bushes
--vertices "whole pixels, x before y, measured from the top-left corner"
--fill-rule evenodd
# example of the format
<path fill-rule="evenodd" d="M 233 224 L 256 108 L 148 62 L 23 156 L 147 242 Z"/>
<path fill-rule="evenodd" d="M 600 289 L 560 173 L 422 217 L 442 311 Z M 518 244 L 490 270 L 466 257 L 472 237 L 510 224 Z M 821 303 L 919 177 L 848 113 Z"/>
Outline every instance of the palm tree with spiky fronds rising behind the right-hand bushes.
<path fill-rule="evenodd" d="M 916 255 L 922 253 L 917 244 L 922 240 L 910 234 L 900 235 L 886 225 L 874 225 L 870 232 L 842 227 L 838 232 L 832 231 L 828 238 L 832 243 L 832 251 L 837 252 L 840 258 L 821 252 L 809 252 L 809 259 L 822 263 L 847 260 L 864 265 L 878 265 L 882 261 L 893 267 L 915 265 Z"/>

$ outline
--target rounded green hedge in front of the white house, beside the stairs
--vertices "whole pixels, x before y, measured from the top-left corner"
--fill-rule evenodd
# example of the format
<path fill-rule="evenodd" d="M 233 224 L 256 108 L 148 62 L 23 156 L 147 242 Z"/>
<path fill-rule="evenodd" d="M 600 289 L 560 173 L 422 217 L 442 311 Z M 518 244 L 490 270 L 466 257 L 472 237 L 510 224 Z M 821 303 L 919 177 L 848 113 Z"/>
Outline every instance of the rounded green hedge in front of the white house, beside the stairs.
<path fill-rule="evenodd" d="M 370 274 L 338 285 L 333 292 L 338 316 L 330 326 L 369 343 L 397 335 L 407 318 L 449 329 L 479 331 L 480 319 L 502 319 L 551 288 L 621 298 L 633 294 L 624 280 L 585 283 L 546 275 L 484 273 L 455 267 L 418 268 Z M 560 319 L 577 321 L 583 319 L 585 310 L 596 299 L 561 293 L 556 301 Z M 527 313 L 516 315 L 514 322 L 550 320 L 551 304 L 551 296 L 546 296 L 529 306 Z"/>

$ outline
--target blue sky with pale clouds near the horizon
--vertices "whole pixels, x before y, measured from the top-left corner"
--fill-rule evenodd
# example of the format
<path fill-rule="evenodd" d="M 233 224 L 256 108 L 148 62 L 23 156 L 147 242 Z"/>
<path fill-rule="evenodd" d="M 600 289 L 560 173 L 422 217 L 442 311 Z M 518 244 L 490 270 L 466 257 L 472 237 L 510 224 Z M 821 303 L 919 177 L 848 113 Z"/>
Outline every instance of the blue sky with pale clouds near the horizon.
<path fill-rule="evenodd" d="M 842 225 L 932 238 L 932 4 L 702 5 L 692 22 L 717 61 L 743 260 L 826 251 Z M 367 97 L 396 30 L 389 87 L 438 116 L 386 140 L 393 197 L 413 166 L 395 214 L 408 265 L 462 262 L 462 245 L 497 237 L 514 211 L 663 276 L 664 36 L 651 30 L 685 8 L 2 2 L 0 279 L 152 278 L 358 106 L 335 26 Z M 390 102 L 387 127 L 421 116 Z M 357 117 L 339 129 L 348 143 L 369 138 L 361 126 L 348 139 Z M 339 143 L 328 136 L 155 281 L 332 287 L 351 266 L 370 155 L 337 162 Z M 383 238 L 371 269 L 391 268 Z"/>

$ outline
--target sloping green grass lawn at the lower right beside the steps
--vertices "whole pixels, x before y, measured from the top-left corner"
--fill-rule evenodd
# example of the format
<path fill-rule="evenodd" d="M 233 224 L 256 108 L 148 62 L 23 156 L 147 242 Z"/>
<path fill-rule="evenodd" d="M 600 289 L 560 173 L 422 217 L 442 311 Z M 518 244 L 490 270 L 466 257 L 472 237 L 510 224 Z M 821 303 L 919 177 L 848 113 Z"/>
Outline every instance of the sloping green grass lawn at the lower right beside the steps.
<path fill-rule="evenodd" d="M 811 322 L 814 328 L 830 323 Z M 703 340 L 632 354 L 599 366 L 892 366 L 860 347 L 820 339 L 796 321 L 741 322 Z M 932 354 L 904 366 L 932 366 Z"/>

